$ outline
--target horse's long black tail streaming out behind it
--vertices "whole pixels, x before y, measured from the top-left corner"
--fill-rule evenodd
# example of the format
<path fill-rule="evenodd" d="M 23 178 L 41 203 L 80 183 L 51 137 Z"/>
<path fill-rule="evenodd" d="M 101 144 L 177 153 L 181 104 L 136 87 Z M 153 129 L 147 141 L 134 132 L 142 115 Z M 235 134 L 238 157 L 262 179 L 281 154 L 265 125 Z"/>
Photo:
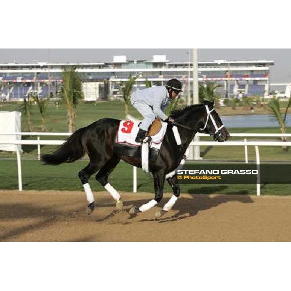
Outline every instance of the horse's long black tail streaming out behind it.
<path fill-rule="evenodd" d="M 53 154 L 42 154 L 41 160 L 49 165 L 59 165 L 63 162 L 75 162 L 85 155 L 81 143 L 82 134 L 86 128 L 76 130 Z"/>

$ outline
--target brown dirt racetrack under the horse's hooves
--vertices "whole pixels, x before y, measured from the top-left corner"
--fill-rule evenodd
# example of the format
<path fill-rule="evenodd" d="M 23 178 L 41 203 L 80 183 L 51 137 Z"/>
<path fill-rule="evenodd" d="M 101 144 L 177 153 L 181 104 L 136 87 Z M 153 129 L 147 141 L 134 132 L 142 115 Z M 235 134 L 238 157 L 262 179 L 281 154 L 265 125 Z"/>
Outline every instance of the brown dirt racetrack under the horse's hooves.
<path fill-rule="evenodd" d="M 123 211 L 98 192 L 88 216 L 83 192 L 0 190 L 0 241 L 291 242 L 291 196 L 181 194 L 173 210 L 154 220 L 159 207 L 128 214 L 153 194 L 120 194 Z M 164 194 L 161 206 L 171 195 Z"/>

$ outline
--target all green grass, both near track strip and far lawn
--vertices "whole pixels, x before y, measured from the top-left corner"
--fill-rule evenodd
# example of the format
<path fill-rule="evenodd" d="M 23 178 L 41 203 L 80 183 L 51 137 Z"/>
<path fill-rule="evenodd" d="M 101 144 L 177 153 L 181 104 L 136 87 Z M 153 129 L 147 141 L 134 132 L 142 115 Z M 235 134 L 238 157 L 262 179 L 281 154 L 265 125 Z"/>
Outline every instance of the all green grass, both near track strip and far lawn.
<path fill-rule="evenodd" d="M 4 104 L 0 111 L 18 111 L 19 104 Z M 140 118 L 139 113 L 131 106 L 129 113 L 134 117 Z M 54 104 L 49 104 L 47 112 L 48 132 L 67 132 L 66 108 L 61 104 L 56 108 Z M 96 104 L 80 104 L 77 108 L 77 128 L 84 127 L 97 119 L 111 117 L 117 119 L 124 118 L 123 103 L 97 102 Z M 32 121 L 39 130 L 41 123 L 36 106 L 33 107 Z M 22 130 L 27 131 L 26 118 L 22 117 Z M 230 132 L 247 133 L 280 133 L 278 128 L 241 128 L 229 129 Z M 291 132 L 290 128 L 287 132 Z M 23 137 L 36 139 L 35 137 Z M 64 139 L 64 137 L 41 137 L 41 139 Z M 232 138 L 233 140 L 242 138 Z M 257 139 L 257 138 L 253 138 Z M 268 138 L 271 139 L 271 138 Z M 202 138 L 202 140 L 212 140 L 211 138 Z M 249 139 L 251 140 L 251 138 Z M 43 165 L 42 162 L 35 160 L 37 157 L 36 146 L 22 146 L 22 175 L 23 188 L 25 190 L 83 190 L 78 172 L 87 164 L 88 161 L 82 160 L 72 164 L 62 164 L 59 166 Z M 41 152 L 48 153 L 53 151 L 56 146 L 41 146 Z M 291 152 L 283 152 L 279 146 L 261 146 L 261 161 L 291 161 Z M 254 147 L 249 146 L 249 161 L 255 160 Z M 244 161 L 243 146 L 201 146 L 201 152 L 204 160 L 235 160 Z M 5 160 L 3 158 L 9 158 Z M 0 151 L 0 189 L 18 189 L 16 154 Z M 120 191 L 132 191 L 132 166 L 125 162 L 120 162 L 117 168 L 110 176 L 110 182 Z M 103 191 L 91 178 L 91 187 L 94 191 Z M 182 193 L 190 194 L 256 194 L 256 185 L 205 185 L 205 184 L 182 184 Z M 146 176 L 141 169 L 138 169 L 138 191 L 153 192 L 153 180 Z M 166 184 L 165 192 L 171 192 L 171 188 Z M 273 184 L 265 185 L 262 194 L 289 194 L 289 185 Z"/>

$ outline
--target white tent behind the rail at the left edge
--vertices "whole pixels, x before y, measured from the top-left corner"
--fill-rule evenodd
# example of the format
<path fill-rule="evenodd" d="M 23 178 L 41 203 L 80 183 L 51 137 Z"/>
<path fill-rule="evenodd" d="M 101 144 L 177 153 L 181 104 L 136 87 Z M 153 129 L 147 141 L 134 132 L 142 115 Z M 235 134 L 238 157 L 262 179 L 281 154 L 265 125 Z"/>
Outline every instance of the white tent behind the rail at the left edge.
<path fill-rule="evenodd" d="M 0 111 L 0 133 L 21 132 L 21 113 Z M 21 140 L 21 135 L 0 135 L 0 140 Z M 22 152 L 21 145 L 17 145 Z M 15 145 L 1 145 L 0 150 L 16 151 Z"/>

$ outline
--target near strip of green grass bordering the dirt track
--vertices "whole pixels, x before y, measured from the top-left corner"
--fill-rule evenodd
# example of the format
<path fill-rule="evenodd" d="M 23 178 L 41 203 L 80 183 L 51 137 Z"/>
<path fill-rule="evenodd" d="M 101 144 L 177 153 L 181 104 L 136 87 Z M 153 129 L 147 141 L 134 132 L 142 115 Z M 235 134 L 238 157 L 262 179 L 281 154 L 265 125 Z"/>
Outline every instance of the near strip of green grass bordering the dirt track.
<path fill-rule="evenodd" d="M 88 161 L 77 161 L 59 166 L 44 165 L 40 161 L 22 161 L 22 180 L 24 190 L 69 190 L 82 191 L 83 187 L 78 178 L 78 172 L 86 166 Z M 138 192 L 154 193 L 153 179 L 138 169 Z M 0 189 L 17 190 L 17 164 L 15 160 L 0 160 Z M 118 191 L 132 192 L 133 168 L 125 162 L 120 162 L 109 178 L 109 182 Z M 104 188 L 95 180 L 90 179 L 93 191 L 104 191 Z M 249 184 L 181 184 L 183 194 L 256 194 L 256 185 Z M 168 183 L 165 183 L 164 192 L 172 192 Z M 263 185 L 261 194 L 288 195 L 290 185 L 268 184 Z"/>

